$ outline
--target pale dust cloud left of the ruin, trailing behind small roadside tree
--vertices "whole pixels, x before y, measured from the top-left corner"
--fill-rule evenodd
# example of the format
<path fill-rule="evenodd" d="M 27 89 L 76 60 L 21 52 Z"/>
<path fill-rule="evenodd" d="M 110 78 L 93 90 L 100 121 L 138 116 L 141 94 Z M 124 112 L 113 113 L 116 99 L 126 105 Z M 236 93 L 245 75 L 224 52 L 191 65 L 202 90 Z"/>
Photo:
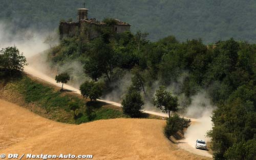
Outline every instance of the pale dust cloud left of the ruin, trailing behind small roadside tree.
<path fill-rule="evenodd" d="M 69 85 L 79 88 L 88 77 L 84 74 L 82 64 L 78 61 L 67 62 L 64 65 L 53 65 L 48 60 L 51 48 L 59 44 L 56 31 L 26 29 L 16 31 L 12 24 L 0 21 L 0 48 L 16 46 L 27 58 L 28 66 L 50 77 L 61 72 L 69 72 Z"/>

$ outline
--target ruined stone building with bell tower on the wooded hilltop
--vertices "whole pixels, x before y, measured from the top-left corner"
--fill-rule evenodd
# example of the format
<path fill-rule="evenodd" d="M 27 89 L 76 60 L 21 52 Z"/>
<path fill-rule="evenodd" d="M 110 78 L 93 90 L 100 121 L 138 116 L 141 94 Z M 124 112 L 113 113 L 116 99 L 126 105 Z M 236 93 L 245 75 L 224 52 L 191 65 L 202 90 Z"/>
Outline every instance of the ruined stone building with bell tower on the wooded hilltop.
<path fill-rule="evenodd" d="M 86 8 L 77 9 L 78 21 L 66 22 L 61 21 L 59 24 L 60 39 L 63 37 L 73 37 L 76 35 L 84 34 L 88 40 L 94 39 L 100 35 L 98 28 L 104 28 L 106 23 L 97 21 L 95 18 L 88 19 L 88 10 Z M 115 32 L 123 33 L 130 31 L 131 25 L 115 19 L 115 23 L 111 24 Z"/>

